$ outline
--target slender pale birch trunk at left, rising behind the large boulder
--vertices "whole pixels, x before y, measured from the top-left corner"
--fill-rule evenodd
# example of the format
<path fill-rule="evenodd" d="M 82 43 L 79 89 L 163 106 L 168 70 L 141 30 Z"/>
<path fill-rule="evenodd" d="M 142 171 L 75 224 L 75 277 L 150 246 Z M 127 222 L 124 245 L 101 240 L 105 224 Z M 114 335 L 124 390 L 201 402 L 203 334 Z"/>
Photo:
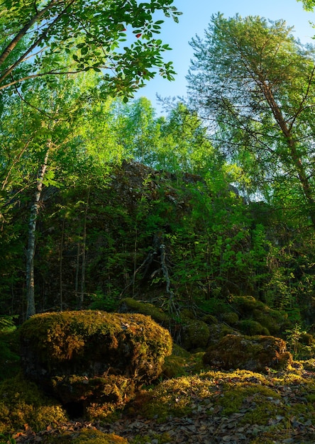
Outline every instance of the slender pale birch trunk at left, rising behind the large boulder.
<path fill-rule="evenodd" d="M 40 209 L 40 196 L 43 190 L 43 179 L 48 164 L 50 145 L 45 152 L 43 165 L 38 170 L 37 186 L 34 195 L 33 205 L 31 206 L 31 216 L 28 223 L 28 250 L 26 252 L 26 319 L 35 314 L 35 295 L 34 295 L 34 252 L 35 252 L 35 231 L 38 213 Z"/>

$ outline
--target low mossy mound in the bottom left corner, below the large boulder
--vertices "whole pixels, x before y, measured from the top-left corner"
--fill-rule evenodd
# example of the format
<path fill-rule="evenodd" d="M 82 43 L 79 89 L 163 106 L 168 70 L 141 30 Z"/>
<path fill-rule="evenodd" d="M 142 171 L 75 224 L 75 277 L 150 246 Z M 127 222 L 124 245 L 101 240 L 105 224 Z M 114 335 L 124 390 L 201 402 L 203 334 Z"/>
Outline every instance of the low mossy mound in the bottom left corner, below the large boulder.
<path fill-rule="evenodd" d="M 18 375 L 0 384 L 0 433 L 23 430 L 28 424 L 39 431 L 52 423 L 67 421 L 57 401 L 52 401 L 38 387 Z"/>

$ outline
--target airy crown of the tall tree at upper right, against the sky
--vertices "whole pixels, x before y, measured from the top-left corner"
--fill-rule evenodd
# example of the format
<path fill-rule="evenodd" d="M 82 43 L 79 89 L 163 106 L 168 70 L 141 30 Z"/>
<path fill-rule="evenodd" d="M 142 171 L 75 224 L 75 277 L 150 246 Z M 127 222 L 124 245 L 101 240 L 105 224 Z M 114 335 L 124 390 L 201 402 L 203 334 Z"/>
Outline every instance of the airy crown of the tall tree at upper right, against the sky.
<path fill-rule="evenodd" d="M 314 46 L 282 20 L 218 14 L 192 47 L 190 101 L 219 150 L 247 172 L 250 191 L 281 196 L 315 227 Z"/>

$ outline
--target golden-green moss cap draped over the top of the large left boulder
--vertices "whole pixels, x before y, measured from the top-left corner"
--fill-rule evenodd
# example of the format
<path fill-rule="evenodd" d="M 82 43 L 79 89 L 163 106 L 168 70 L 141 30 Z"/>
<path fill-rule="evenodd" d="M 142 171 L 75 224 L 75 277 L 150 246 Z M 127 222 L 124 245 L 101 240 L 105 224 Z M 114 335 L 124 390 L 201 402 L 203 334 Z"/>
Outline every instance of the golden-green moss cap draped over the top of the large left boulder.
<path fill-rule="evenodd" d="M 172 340 L 169 333 L 157 326 L 148 316 L 123 315 L 101 311 L 68 311 L 33 316 L 21 328 L 21 342 L 29 345 L 40 362 L 48 367 L 62 362 L 75 362 L 99 353 L 101 350 L 119 351 L 119 338 L 136 347 L 136 353 L 147 353 L 151 348 L 157 360 L 159 355 L 170 355 Z M 105 349 L 104 349 L 105 347 Z M 137 356 L 138 357 L 138 356 Z M 84 363 L 83 363 L 84 365 Z"/>

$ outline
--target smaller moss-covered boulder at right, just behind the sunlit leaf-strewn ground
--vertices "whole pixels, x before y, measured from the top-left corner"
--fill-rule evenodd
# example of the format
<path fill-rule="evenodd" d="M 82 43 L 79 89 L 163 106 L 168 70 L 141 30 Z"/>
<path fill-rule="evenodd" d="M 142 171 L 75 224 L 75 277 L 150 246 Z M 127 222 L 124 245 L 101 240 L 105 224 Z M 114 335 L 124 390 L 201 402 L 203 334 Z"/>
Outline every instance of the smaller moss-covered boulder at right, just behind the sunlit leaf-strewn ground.
<path fill-rule="evenodd" d="M 284 369 L 291 362 L 286 343 L 274 336 L 226 335 L 204 354 L 204 364 L 223 370 L 263 372 L 266 368 Z"/>

